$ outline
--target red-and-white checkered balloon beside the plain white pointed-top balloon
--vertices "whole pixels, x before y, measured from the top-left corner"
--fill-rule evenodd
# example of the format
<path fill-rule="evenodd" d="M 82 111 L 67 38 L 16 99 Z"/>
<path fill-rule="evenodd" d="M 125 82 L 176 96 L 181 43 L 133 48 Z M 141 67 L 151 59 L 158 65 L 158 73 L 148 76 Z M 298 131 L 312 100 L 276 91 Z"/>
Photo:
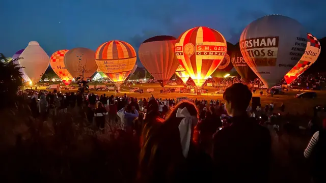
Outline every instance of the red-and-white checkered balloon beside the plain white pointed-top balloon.
<path fill-rule="evenodd" d="M 69 85 L 73 79 L 71 74 L 68 72 L 64 62 L 65 54 L 68 51 L 69 50 L 66 49 L 59 50 L 53 53 L 50 57 L 50 66 L 52 70 L 55 71 L 55 73 L 60 77 L 60 79 L 62 79 L 62 82 L 65 85 Z"/>

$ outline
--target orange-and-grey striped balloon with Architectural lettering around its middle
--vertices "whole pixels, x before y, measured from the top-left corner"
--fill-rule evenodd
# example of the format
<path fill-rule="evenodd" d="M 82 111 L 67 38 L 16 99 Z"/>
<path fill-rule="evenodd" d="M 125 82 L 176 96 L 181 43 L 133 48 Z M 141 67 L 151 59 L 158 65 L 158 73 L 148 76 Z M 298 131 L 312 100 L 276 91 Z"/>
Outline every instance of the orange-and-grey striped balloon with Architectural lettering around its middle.
<path fill-rule="evenodd" d="M 136 52 L 124 41 L 108 41 L 95 52 L 98 68 L 119 88 L 136 63 Z"/>

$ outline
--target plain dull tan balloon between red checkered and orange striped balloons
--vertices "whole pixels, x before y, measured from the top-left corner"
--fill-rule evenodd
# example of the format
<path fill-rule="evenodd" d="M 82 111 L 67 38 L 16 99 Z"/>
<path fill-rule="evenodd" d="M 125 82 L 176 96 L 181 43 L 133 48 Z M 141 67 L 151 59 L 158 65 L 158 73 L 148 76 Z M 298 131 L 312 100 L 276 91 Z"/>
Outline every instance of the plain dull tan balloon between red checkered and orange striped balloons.
<path fill-rule="evenodd" d="M 65 54 L 64 64 L 73 78 L 90 78 L 97 70 L 94 55 L 91 49 L 73 48 Z"/>

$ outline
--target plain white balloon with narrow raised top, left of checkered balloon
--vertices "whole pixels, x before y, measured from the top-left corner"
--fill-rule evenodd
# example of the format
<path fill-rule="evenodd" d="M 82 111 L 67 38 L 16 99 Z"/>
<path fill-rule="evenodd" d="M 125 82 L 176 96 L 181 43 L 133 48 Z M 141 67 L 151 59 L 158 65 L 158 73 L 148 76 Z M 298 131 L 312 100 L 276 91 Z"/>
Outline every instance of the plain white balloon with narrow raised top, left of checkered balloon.
<path fill-rule="evenodd" d="M 20 54 L 19 65 L 31 82 L 37 83 L 49 66 L 49 56 L 38 42 L 31 41 Z"/>

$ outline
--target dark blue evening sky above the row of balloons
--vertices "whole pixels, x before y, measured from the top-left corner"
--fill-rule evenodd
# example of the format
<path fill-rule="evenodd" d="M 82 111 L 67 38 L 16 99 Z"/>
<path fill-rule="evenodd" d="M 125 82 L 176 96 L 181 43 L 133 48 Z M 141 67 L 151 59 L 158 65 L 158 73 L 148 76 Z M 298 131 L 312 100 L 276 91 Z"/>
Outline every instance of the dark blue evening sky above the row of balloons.
<path fill-rule="evenodd" d="M 234 44 L 247 24 L 267 14 L 294 18 L 322 38 L 325 7 L 323 0 L 2 0 L 0 52 L 12 56 L 38 41 L 51 55 L 74 47 L 95 50 L 115 39 L 138 52 L 149 37 L 178 37 L 194 26 L 212 27 Z"/>

